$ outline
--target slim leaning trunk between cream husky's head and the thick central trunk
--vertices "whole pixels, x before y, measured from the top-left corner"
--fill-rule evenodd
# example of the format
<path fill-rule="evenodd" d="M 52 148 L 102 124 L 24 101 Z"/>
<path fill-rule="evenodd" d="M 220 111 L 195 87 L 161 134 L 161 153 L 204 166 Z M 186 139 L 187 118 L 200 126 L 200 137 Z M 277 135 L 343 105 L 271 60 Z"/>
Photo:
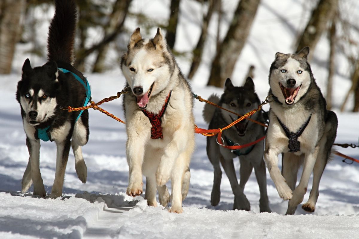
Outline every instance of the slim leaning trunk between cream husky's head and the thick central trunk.
<path fill-rule="evenodd" d="M 208 0 L 208 12 L 203 17 L 201 35 L 197 42 L 196 48 L 193 50 L 192 64 L 191 64 L 190 72 L 188 73 L 189 79 L 192 79 L 192 77 L 197 72 L 197 69 L 201 63 L 204 44 L 206 42 L 207 35 L 208 35 L 208 25 L 211 20 L 211 17 L 212 17 L 212 14 L 214 12 L 215 5 L 217 2 L 218 1 L 216 1 L 216 0 Z"/>

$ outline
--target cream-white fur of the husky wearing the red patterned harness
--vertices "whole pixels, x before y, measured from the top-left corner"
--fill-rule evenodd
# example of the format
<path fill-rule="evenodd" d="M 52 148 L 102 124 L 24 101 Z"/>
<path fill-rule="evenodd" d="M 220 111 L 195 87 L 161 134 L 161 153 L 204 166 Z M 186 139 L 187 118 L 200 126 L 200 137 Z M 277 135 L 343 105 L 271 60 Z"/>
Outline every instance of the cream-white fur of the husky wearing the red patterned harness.
<path fill-rule="evenodd" d="M 127 194 L 140 195 L 142 175 L 146 176 L 148 205 L 166 206 L 169 193 L 165 185 L 171 179 L 170 212 L 181 213 L 190 181 L 190 160 L 195 147 L 193 96 L 176 60 L 158 29 L 153 39 L 142 39 L 137 28 L 122 57 L 121 69 L 132 92 L 126 94 L 126 154 L 129 164 Z M 137 89 L 141 89 L 138 91 Z M 142 109 L 158 114 L 169 92 L 167 109 L 162 117 L 163 139 L 151 139 L 151 124 Z M 149 97 L 147 97 L 147 95 Z"/>

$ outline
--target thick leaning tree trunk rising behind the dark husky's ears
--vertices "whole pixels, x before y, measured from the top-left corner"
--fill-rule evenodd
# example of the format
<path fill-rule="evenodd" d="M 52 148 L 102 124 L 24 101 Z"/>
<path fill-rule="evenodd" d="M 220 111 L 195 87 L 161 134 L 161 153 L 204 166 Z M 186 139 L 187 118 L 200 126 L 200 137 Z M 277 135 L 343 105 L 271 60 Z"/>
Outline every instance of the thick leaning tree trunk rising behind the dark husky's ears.
<path fill-rule="evenodd" d="M 241 0 L 238 4 L 227 35 L 212 62 L 208 85 L 223 87 L 232 75 L 238 56 L 246 43 L 260 0 Z"/>

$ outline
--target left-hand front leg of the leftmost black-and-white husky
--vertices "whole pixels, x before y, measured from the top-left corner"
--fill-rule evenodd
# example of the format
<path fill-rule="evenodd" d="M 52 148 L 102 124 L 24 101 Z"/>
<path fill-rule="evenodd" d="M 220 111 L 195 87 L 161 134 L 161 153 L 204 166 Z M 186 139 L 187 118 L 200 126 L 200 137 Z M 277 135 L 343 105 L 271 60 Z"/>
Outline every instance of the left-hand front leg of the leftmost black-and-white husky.
<path fill-rule="evenodd" d="M 26 145 L 30 154 L 31 178 L 34 183 L 34 195 L 46 197 L 46 191 L 40 172 L 40 140 L 26 138 Z"/>

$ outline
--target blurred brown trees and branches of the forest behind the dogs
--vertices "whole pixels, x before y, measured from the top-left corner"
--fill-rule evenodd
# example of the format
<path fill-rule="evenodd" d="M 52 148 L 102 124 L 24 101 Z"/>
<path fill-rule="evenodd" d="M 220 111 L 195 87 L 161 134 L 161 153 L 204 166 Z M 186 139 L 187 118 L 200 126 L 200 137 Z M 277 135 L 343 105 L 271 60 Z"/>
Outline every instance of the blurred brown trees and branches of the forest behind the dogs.
<path fill-rule="evenodd" d="M 181 12 L 183 1 L 196 1 L 201 4 L 200 12 Z M 276 1 L 276 0 L 267 0 Z M 203 58 L 204 46 L 208 40 L 208 27 L 211 21 L 224 22 L 228 25 L 227 32 L 220 35 L 223 24 L 217 24 L 215 56 L 211 59 L 208 85 L 222 87 L 224 80 L 232 75 L 236 61 L 246 44 L 253 19 L 258 6 L 264 0 L 232 0 L 236 2 L 233 15 L 223 12 L 228 0 L 163 0 L 169 8 L 166 21 L 150 18 L 147 15 L 131 12 L 132 0 L 76 0 L 78 5 L 78 32 L 76 38 L 76 65 L 80 71 L 104 72 L 118 68 L 123 51 L 134 29 L 127 29 L 125 21 L 129 18 L 141 26 L 141 32 L 149 34 L 154 27 L 163 28 L 166 32 L 168 46 L 173 49 L 176 43 L 178 21 L 188 14 L 201 16 L 201 33 L 192 51 L 183 52 L 173 49 L 176 56 L 188 58 L 190 68 L 183 72 L 189 80 L 195 75 Z M 281 4 L 281 1 L 276 1 Z M 322 89 L 328 103 L 332 107 L 332 81 L 335 74 L 335 58 L 338 53 L 345 56 L 350 66 L 349 78 L 351 87 L 344 97 L 341 110 L 344 110 L 349 96 L 354 94 L 353 111 L 359 111 L 359 39 L 354 37 L 359 33 L 359 23 L 350 22 L 347 16 L 347 1 L 341 0 L 303 0 L 309 12 L 309 19 L 304 29 L 294 29 L 297 34 L 293 42 L 293 53 L 305 46 L 311 52 L 317 47 L 318 40 L 325 35 L 330 44 L 330 54 L 327 56 L 327 89 Z M 36 16 L 48 13 L 53 8 L 52 0 L 1 0 L 0 1 L 0 73 L 11 73 L 15 48 L 21 44 L 31 44 L 30 51 L 40 58 L 46 58 L 46 47 L 37 37 L 37 28 L 42 18 Z M 350 6 L 349 6 L 350 8 Z M 35 14 L 35 11 L 37 14 Z M 38 11 L 41 13 L 38 14 Z M 214 17 L 215 16 L 215 17 Z M 51 16 L 50 16 L 51 18 Z M 285 19 L 282 19 L 285 21 Z M 90 32 L 95 32 L 97 38 L 89 39 Z M 92 34 L 93 35 L 93 34 Z M 112 53 L 110 53 L 112 52 Z M 113 54 L 117 52 L 117 54 Z M 288 52 L 284 52 L 288 53 Z M 274 55 L 274 54 L 273 54 Z M 311 59 L 309 58 L 309 61 Z M 255 65 L 248 67 L 247 75 L 253 76 Z M 268 66 L 269 69 L 269 66 Z"/>

